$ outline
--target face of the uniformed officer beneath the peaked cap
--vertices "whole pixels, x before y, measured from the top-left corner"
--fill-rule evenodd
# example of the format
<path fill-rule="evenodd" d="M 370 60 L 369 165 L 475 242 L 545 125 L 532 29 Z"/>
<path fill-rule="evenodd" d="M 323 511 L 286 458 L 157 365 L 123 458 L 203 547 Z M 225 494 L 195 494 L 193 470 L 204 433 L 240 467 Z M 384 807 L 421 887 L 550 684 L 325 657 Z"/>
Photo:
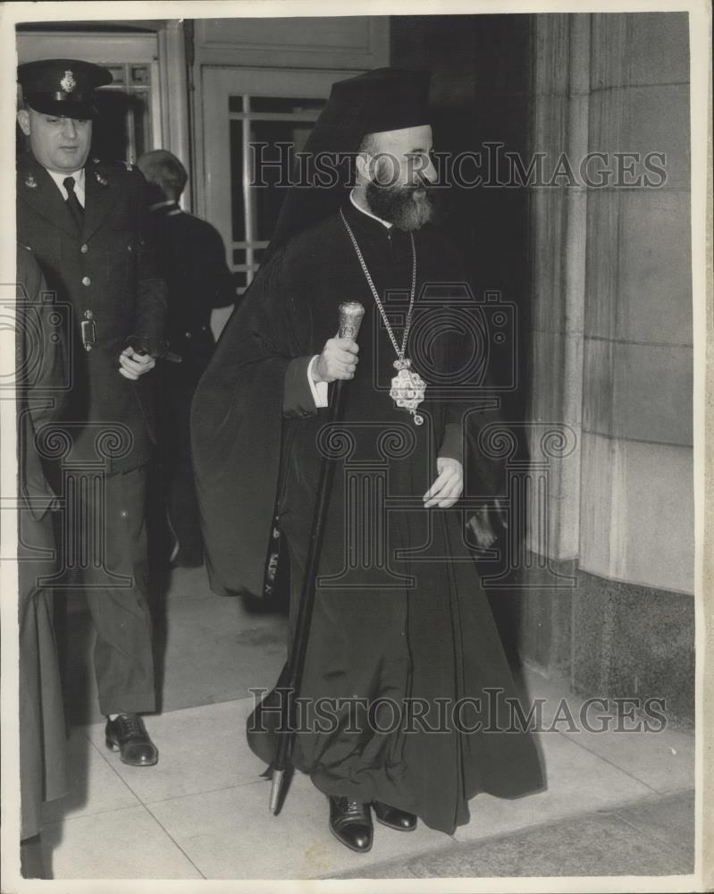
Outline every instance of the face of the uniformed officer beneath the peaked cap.
<path fill-rule="evenodd" d="M 56 173 L 72 173 L 84 167 L 92 140 L 92 122 L 78 118 L 23 109 L 17 114 L 29 148 L 39 164 Z"/>

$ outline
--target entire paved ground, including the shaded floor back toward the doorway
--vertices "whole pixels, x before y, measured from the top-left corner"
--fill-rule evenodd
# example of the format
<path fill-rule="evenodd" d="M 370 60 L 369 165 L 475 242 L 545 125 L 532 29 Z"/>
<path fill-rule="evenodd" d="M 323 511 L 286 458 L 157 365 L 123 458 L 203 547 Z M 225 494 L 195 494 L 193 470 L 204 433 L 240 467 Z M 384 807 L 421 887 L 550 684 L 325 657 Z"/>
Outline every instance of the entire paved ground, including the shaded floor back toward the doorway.
<path fill-rule="evenodd" d="M 250 687 L 273 685 L 285 620 L 208 593 L 204 569 L 176 571 L 160 630 L 163 713 L 147 718 L 157 766 L 132 768 L 104 743 L 88 656 L 88 619 L 71 619 L 72 789 L 46 805 L 57 879 L 428 878 L 667 874 L 692 869 L 693 736 L 585 732 L 537 736 L 548 788 L 515 801 L 478 795 L 453 836 L 376 825 L 369 854 L 327 826 L 327 800 L 301 774 L 277 817 L 264 765 L 246 744 Z M 582 702 L 561 681 L 525 675 L 543 726 Z M 84 713 L 77 718 L 77 713 Z M 688 890 L 683 888 L 683 890 Z"/>

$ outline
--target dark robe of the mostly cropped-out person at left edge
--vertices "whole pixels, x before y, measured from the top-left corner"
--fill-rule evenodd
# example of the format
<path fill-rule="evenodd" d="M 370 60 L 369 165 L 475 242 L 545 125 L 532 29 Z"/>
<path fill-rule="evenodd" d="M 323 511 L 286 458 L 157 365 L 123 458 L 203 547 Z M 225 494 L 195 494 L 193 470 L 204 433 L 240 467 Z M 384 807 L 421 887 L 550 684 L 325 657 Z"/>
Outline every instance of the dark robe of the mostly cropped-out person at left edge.
<path fill-rule="evenodd" d="M 61 417 L 66 345 L 55 303 L 29 249 L 17 247 L 18 621 L 21 839 L 42 829 L 42 802 L 67 792 L 66 730 L 55 641 L 53 591 L 43 578 L 57 570 L 53 515 L 35 436 Z"/>

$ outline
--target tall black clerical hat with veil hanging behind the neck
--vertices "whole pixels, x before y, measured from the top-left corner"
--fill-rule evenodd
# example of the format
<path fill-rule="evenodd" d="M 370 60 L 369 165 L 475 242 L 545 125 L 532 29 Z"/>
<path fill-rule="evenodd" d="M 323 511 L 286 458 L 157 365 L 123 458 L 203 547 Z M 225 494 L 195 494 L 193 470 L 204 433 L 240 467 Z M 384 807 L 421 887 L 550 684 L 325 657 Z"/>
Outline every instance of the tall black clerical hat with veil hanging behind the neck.
<path fill-rule="evenodd" d="M 323 154 L 334 165 L 336 182 L 293 186 L 282 204 L 268 254 L 298 232 L 340 207 L 354 156 L 370 133 L 401 131 L 429 122 L 430 72 L 378 68 L 332 85 L 330 98 L 307 138 L 303 154 Z M 309 170 L 309 165 L 307 165 Z"/>

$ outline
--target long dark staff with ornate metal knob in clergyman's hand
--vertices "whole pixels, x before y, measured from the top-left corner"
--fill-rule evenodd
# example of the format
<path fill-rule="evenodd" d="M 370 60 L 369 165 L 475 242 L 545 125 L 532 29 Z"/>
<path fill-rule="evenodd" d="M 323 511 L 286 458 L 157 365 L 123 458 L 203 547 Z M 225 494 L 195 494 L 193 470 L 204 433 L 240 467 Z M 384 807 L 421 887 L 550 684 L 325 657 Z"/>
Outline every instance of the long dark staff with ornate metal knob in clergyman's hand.
<path fill-rule="evenodd" d="M 339 338 L 350 338 L 357 341 L 357 333 L 365 316 L 365 308 L 358 301 L 345 301 L 340 304 L 340 329 Z M 339 422 L 342 415 L 342 385 L 344 381 L 337 379 L 332 385 L 332 401 L 330 402 L 330 417 L 328 425 Z M 305 578 L 302 583 L 302 595 L 298 609 L 298 621 L 295 628 L 295 639 L 290 654 L 288 667 L 288 679 L 283 690 L 287 697 L 281 699 L 281 724 L 277 731 L 278 746 L 273 761 L 273 782 L 270 790 L 270 809 L 273 814 L 278 812 L 280 804 L 280 792 L 282 778 L 285 775 L 290 762 L 290 746 L 295 736 L 292 705 L 298 698 L 302 671 L 305 667 L 307 654 L 307 640 L 310 636 L 310 623 L 313 617 L 315 605 L 315 581 L 317 569 L 320 564 L 320 552 L 323 545 L 324 523 L 327 519 L 327 510 L 330 505 L 330 493 L 332 491 L 332 478 L 334 477 L 335 462 L 323 455 L 320 464 L 320 478 L 317 485 L 315 499 L 315 514 L 313 516 L 313 528 L 310 535 L 310 544 L 307 548 L 307 562 Z M 281 687 L 282 688 L 282 687 Z"/>

